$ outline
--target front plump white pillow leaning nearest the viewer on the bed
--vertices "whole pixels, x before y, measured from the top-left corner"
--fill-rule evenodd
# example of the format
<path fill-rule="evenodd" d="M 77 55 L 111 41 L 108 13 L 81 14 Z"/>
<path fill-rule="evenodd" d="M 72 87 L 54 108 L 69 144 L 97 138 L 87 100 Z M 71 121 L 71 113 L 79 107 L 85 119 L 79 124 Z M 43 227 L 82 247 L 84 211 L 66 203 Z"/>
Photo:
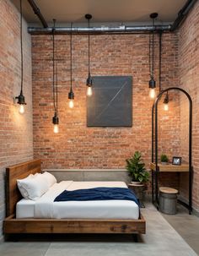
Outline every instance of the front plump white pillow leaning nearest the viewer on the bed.
<path fill-rule="evenodd" d="M 24 189 L 25 198 L 31 200 L 40 199 L 41 195 L 46 193 L 49 188 L 49 183 L 46 182 L 46 178 L 40 173 L 32 178 L 17 180 L 17 183 L 19 190 L 20 188 Z"/>

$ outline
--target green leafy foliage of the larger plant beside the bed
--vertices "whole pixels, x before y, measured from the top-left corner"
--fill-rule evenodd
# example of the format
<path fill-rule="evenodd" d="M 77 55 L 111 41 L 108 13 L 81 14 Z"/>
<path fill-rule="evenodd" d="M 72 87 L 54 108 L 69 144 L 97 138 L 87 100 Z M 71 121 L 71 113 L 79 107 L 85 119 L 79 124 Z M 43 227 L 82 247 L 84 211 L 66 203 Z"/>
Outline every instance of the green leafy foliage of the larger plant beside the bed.
<path fill-rule="evenodd" d="M 126 159 L 126 170 L 129 172 L 129 176 L 132 177 L 132 182 L 148 182 L 149 173 L 141 157 L 141 152 L 136 151 L 131 158 Z"/>

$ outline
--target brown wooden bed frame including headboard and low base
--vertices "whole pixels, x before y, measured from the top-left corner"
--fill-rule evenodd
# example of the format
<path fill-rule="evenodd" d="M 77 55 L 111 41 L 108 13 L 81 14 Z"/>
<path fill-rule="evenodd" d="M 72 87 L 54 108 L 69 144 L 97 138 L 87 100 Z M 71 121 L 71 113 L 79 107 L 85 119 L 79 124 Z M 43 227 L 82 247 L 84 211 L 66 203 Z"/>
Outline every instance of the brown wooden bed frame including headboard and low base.
<path fill-rule="evenodd" d="M 16 219 L 17 202 L 22 198 L 17 179 L 30 173 L 41 172 L 40 160 L 27 161 L 6 169 L 7 217 L 4 220 L 5 235 L 16 233 L 132 233 L 145 234 L 146 223 L 141 215 L 138 220 L 102 219 Z"/>

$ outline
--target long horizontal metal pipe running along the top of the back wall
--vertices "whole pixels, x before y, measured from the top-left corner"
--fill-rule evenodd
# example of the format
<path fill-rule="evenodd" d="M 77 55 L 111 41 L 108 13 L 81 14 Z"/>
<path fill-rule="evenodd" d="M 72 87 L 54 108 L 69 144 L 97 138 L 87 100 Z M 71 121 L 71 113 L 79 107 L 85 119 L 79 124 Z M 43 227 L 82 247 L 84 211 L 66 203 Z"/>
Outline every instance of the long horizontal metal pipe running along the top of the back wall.
<path fill-rule="evenodd" d="M 150 32 L 150 31 L 169 31 L 171 25 L 142 25 L 142 26 L 125 26 L 121 25 L 119 27 L 73 27 L 72 31 L 75 34 L 87 34 L 88 32 L 91 34 L 105 34 L 105 33 L 137 33 L 137 32 Z M 28 31 L 31 35 L 36 34 L 51 34 L 53 28 L 33 28 L 29 27 Z M 58 27 L 55 28 L 56 34 L 70 34 L 71 28 L 70 27 Z"/>

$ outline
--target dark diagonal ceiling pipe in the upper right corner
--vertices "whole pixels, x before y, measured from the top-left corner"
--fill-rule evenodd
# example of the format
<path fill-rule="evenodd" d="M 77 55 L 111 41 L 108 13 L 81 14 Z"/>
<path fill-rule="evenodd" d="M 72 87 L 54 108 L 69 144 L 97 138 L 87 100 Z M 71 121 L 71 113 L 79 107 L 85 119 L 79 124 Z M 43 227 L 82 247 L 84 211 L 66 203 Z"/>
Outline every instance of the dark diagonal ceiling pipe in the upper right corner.
<path fill-rule="evenodd" d="M 183 8 L 180 9 L 180 12 L 178 13 L 177 19 L 175 19 L 174 24 L 171 26 L 170 31 L 175 31 L 183 22 L 183 20 L 186 18 L 187 14 L 191 10 L 191 8 L 194 6 L 194 4 L 197 2 L 197 0 L 188 0 L 186 4 L 183 6 Z"/>

